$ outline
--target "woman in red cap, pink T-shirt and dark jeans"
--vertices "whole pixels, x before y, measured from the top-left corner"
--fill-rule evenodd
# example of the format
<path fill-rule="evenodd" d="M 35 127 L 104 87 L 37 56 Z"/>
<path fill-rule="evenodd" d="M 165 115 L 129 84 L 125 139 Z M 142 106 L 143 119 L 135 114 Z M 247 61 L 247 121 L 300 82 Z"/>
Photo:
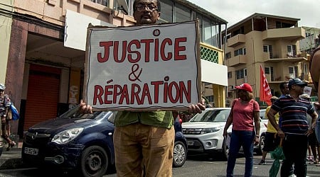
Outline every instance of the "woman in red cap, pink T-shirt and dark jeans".
<path fill-rule="evenodd" d="M 238 98 L 233 101 L 230 115 L 225 122 L 223 136 L 228 136 L 228 127 L 233 124 L 230 139 L 227 176 L 233 176 L 235 161 L 242 146 L 245 153 L 245 176 L 252 176 L 253 147 L 259 143 L 260 136 L 260 107 L 255 101 L 250 84 L 235 86 Z"/>

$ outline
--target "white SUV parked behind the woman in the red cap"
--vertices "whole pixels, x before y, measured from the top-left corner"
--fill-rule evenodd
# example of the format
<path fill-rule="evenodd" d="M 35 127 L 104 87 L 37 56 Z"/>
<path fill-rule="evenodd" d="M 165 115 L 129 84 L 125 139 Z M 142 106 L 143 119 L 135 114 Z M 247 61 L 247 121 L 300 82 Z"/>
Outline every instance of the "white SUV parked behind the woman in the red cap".
<path fill-rule="evenodd" d="M 228 158 L 229 148 L 223 138 L 223 129 L 231 108 L 206 108 L 188 122 L 182 123 L 188 152 L 221 152 Z M 229 128 L 231 132 L 231 128 Z"/>

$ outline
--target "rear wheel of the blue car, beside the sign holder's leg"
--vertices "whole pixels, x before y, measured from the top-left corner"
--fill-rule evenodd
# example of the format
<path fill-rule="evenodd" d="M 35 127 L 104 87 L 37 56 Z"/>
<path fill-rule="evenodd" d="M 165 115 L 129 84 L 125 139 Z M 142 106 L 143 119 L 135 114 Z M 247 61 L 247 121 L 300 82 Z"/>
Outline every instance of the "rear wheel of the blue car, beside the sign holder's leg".
<path fill-rule="evenodd" d="M 181 167 L 186 162 L 186 145 L 183 142 L 174 142 L 174 167 Z"/>

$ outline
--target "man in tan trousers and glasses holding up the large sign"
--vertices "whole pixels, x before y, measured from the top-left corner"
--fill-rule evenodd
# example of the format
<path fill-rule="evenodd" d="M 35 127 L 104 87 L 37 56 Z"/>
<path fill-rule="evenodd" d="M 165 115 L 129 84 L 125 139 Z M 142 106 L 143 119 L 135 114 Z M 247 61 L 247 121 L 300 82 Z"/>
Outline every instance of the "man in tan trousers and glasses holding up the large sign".
<path fill-rule="evenodd" d="M 136 0 L 137 25 L 153 24 L 160 17 L 159 0 Z M 92 106 L 81 101 L 81 111 Z M 188 107 L 189 113 L 205 110 L 203 101 Z M 114 122 L 117 176 L 172 176 L 174 117 L 172 111 L 118 111 Z"/>

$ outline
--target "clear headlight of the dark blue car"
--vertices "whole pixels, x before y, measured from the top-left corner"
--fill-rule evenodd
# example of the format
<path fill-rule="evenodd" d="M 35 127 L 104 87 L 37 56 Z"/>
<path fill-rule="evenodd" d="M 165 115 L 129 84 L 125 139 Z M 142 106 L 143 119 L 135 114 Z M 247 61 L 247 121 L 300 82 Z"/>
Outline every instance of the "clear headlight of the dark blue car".
<path fill-rule="evenodd" d="M 51 140 L 51 142 L 55 142 L 57 144 L 68 143 L 71 140 L 75 139 L 75 137 L 78 137 L 78 135 L 80 135 L 82 130 L 83 130 L 82 127 L 65 130 L 55 135 Z"/>

